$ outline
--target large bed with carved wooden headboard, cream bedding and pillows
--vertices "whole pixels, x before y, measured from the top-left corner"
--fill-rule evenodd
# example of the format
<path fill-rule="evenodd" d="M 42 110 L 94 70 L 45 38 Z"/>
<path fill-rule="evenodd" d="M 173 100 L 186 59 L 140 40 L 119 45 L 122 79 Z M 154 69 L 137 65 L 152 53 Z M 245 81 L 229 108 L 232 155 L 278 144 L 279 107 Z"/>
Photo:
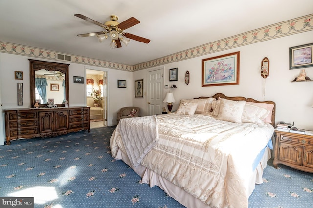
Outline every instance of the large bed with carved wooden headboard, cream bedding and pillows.
<path fill-rule="evenodd" d="M 272 101 L 182 99 L 175 113 L 122 119 L 111 154 L 186 207 L 247 208 L 271 157 L 274 125 Z"/>

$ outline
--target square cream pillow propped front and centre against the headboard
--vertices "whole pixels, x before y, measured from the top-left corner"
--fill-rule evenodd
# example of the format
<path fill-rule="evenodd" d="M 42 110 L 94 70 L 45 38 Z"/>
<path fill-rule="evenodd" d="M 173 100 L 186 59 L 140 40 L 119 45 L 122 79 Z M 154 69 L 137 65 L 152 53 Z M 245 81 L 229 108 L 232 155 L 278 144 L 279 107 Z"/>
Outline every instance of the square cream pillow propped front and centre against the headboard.
<path fill-rule="evenodd" d="M 233 101 L 224 98 L 220 101 L 220 110 L 217 115 L 217 120 L 241 123 L 246 101 Z"/>

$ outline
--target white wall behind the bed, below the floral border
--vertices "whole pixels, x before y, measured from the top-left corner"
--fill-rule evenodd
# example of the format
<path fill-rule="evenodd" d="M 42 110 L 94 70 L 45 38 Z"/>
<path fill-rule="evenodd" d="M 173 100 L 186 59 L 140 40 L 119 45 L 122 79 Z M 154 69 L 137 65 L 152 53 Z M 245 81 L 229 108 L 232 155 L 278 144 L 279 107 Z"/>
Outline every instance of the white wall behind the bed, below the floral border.
<path fill-rule="evenodd" d="M 251 97 L 261 101 L 272 100 L 276 103 L 276 123 L 279 121 L 294 122 L 298 128 L 313 130 L 313 108 L 311 108 L 313 105 L 313 82 L 291 82 L 300 74 L 301 69 L 289 70 L 289 47 L 312 42 L 313 31 L 309 31 L 166 64 L 164 65 L 164 85 L 175 84 L 178 87 L 171 90 L 177 101 L 173 104 L 173 110 L 177 110 L 182 98 L 211 96 L 221 92 L 227 96 Z M 202 59 L 235 51 L 240 51 L 240 84 L 202 87 Z M 265 80 L 263 99 L 264 79 L 260 75 L 260 70 L 264 57 L 268 57 L 270 61 L 270 71 Z M 178 81 L 169 82 L 169 69 L 171 68 L 178 68 Z M 313 67 L 304 69 L 307 76 L 313 79 Z M 133 83 L 134 80 L 144 79 L 144 92 L 147 89 L 147 70 L 133 73 Z M 190 72 L 189 85 L 184 83 L 187 70 Z M 164 96 L 168 91 L 169 89 L 164 89 Z M 146 94 L 144 94 L 144 98 L 134 98 L 133 95 L 133 99 L 134 106 L 139 106 L 143 108 L 142 112 L 147 112 Z"/>

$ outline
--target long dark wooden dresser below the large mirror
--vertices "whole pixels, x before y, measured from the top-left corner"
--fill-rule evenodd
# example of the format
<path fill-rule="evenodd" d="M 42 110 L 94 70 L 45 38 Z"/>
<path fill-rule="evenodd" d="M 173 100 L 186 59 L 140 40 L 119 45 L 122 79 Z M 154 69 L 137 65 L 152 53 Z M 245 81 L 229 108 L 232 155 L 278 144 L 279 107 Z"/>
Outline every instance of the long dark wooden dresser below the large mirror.
<path fill-rule="evenodd" d="M 70 132 L 90 132 L 90 107 L 6 109 L 6 144 L 11 140 L 50 137 Z"/>

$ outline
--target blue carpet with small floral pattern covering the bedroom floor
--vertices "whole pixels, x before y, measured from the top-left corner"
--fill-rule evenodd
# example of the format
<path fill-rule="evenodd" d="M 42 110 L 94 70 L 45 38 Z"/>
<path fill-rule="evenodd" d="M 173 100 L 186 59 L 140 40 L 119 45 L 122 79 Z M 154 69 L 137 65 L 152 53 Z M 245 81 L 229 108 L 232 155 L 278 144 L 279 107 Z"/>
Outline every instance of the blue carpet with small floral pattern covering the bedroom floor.
<path fill-rule="evenodd" d="M 0 146 L 0 196 L 35 197 L 35 208 L 182 208 L 110 152 L 113 127 Z M 250 208 L 308 208 L 313 174 L 268 162 Z"/>

